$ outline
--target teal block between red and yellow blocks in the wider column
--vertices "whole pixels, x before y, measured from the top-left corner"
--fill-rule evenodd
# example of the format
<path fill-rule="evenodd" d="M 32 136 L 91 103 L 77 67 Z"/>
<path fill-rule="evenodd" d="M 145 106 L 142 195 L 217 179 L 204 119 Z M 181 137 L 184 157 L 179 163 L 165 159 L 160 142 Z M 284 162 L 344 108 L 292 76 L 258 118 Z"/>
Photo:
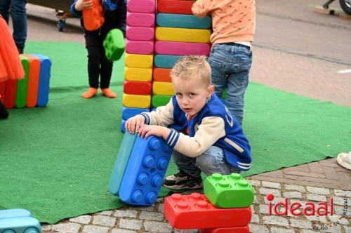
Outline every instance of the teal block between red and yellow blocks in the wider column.
<path fill-rule="evenodd" d="M 212 20 L 210 16 L 197 18 L 195 15 L 158 13 L 156 24 L 160 27 L 211 29 Z"/>

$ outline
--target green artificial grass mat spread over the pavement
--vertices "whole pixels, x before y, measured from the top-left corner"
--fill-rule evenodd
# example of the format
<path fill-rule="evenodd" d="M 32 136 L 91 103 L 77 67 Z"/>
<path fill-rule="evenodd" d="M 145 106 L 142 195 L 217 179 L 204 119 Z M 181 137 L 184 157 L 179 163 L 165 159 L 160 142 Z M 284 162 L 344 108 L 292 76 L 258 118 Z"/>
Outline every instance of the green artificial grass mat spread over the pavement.
<path fill-rule="evenodd" d="M 77 43 L 27 43 L 51 58 L 47 107 L 11 109 L 0 121 L 0 209 L 25 208 L 55 223 L 124 204 L 108 192 L 119 145 L 124 58 L 114 64 L 117 99 L 80 97 L 88 86 L 86 49 Z M 253 166 L 244 175 L 296 166 L 347 152 L 351 109 L 251 83 L 244 131 Z M 173 163 L 167 174 L 176 172 Z M 161 189 L 160 195 L 169 189 Z"/>

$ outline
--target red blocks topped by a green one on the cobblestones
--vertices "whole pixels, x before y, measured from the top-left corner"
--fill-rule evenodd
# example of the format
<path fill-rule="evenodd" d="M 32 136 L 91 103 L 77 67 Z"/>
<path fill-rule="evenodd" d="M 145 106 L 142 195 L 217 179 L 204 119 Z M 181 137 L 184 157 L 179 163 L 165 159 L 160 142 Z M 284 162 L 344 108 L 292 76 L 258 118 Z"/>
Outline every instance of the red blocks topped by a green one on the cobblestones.
<path fill-rule="evenodd" d="M 241 175 L 214 173 L 204 182 L 204 194 L 167 197 L 164 215 L 177 229 L 249 233 L 253 196 L 253 187 Z"/>

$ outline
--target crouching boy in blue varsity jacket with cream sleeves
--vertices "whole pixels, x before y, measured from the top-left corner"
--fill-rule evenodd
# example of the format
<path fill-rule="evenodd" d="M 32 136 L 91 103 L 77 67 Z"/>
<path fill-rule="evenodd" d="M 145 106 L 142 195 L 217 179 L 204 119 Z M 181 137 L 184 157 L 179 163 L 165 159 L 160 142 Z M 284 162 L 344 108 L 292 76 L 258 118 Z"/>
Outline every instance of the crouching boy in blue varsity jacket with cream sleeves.
<path fill-rule="evenodd" d="M 171 77 L 176 95 L 166 106 L 126 121 L 127 131 L 162 137 L 174 147 L 172 157 L 180 172 L 168 176 L 164 187 L 198 189 L 203 187 L 201 171 L 227 175 L 249 170 L 249 142 L 234 116 L 213 95 L 206 58 L 180 58 Z"/>

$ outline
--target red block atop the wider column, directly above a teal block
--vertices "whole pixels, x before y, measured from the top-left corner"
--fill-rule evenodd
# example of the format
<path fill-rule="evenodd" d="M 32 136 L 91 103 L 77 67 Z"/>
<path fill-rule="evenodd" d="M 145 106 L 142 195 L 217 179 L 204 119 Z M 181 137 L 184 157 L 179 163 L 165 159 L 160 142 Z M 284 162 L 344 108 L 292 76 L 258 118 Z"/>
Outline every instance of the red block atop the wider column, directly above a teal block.
<path fill-rule="evenodd" d="M 194 1 L 161 0 L 157 1 L 157 13 L 192 15 Z"/>

